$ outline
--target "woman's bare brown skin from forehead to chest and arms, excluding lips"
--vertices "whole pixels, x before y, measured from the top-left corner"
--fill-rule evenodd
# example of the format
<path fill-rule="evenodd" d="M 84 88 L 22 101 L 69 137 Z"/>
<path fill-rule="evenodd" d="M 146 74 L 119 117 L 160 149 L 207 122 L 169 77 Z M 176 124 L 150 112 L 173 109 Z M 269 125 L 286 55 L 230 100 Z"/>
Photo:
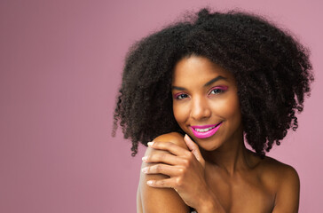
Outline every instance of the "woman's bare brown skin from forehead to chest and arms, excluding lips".
<path fill-rule="evenodd" d="M 221 77 L 219 77 L 221 76 Z M 149 143 L 138 185 L 138 213 L 295 213 L 300 182 L 295 169 L 260 159 L 243 141 L 234 76 L 190 56 L 174 69 L 173 112 L 187 135 L 171 132 Z M 225 90 L 224 90 L 225 88 Z M 222 122 L 209 138 L 191 126 Z"/>

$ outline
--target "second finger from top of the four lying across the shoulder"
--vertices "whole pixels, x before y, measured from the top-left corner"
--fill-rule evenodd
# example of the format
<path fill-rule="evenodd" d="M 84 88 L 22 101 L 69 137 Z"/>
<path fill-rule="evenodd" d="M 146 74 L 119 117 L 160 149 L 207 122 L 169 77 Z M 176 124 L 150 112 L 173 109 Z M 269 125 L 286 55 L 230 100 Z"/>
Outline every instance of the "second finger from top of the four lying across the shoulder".
<path fill-rule="evenodd" d="M 146 155 L 142 158 L 143 162 L 163 162 L 169 165 L 183 164 L 184 159 L 177 157 L 169 152 L 161 152 L 156 150 L 152 154 Z"/>

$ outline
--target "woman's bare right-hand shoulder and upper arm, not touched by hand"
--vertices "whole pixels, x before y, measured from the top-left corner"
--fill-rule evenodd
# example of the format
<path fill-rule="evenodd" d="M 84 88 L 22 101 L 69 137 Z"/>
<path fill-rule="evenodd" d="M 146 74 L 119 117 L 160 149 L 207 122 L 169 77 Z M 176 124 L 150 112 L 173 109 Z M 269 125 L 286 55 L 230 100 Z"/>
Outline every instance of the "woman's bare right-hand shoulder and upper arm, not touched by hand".
<path fill-rule="evenodd" d="M 259 166 L 261 178 L 275 193 L 272 212 L 298 212 L 300 179 L 297 171 L 271 157 L 265 157 Z"/>

